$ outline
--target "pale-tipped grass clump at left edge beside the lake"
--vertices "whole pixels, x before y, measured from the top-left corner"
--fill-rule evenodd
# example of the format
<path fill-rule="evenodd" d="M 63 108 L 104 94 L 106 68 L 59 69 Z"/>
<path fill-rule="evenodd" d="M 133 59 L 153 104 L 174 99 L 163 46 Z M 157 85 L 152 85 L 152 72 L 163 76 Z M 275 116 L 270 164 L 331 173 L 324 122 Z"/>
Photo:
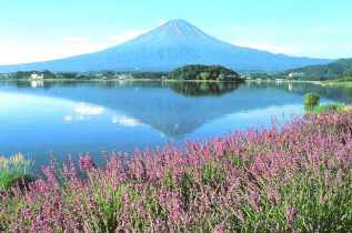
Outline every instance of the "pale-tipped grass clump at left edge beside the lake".
<path fill-rule="evenodd" d="M 20 186 L 30 183 L 32 181 L 32 164 L 33 161 L 26 159 L 21 153 L 10 158 L 0 156 L 0 189 L 10 189 L 17 183 Z"/>

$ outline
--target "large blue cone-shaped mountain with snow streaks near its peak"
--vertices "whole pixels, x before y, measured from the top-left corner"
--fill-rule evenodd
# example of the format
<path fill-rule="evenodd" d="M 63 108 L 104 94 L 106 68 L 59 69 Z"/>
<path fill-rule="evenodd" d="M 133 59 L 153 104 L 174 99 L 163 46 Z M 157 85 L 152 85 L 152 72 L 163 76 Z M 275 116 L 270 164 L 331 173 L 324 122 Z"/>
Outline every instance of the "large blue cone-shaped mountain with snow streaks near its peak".
<path fill-rule="evenodd" d="M 331 62 L 295 58 L 237 47 L 220 41 L 184 20 L 171 20 L 145 34 L 115 47 L 67 59 L 0 65 L 0 72 L 51 71 L 170 71 L 184 64 L 221 64 L 235 70 L 285 70 Z"/>

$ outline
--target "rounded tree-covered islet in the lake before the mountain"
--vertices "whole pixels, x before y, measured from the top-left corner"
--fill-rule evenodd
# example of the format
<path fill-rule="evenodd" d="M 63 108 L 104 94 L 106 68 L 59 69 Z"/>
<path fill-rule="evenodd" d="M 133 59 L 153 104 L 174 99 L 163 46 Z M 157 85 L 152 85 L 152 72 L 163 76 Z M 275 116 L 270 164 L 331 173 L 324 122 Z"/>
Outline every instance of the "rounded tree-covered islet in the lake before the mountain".
<path fill-rule="evenodd" d="M 171 80 L 220 80 L 220 81 L 238 81 L 244 80 L 233 70 L 222 65 L 204 65 L 189 64 L 173 70 L 169 73 L 168 79 Z"/>

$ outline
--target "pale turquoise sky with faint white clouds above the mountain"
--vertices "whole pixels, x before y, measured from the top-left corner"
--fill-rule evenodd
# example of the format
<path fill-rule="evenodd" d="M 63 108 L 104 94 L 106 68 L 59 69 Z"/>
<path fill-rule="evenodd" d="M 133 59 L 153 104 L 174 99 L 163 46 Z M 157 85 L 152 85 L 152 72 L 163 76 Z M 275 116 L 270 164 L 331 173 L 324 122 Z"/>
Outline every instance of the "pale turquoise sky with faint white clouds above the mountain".
<path fill-rule="evenodd" d="M 171 19 L 237 45 L 351 58 L 351 9 L 352 0 L 0 0 L 0 64 L 98 51 Z"/>

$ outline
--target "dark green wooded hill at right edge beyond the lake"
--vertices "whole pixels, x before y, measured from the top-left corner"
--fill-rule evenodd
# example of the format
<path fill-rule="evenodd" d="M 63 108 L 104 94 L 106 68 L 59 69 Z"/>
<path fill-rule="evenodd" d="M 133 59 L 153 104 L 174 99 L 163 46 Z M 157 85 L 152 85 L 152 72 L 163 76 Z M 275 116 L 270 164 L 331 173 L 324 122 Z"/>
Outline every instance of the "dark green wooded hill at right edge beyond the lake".
<path fill-rule="evenodd" d="M 331 80 L 340 78 L 344 72 L 352 68 L 352 58 L 339 59 L 326 64 L 308 65 L 296 69 L 286 70 L 283 74 L 304 73 L 300 79 L 304 80 Z"/>

